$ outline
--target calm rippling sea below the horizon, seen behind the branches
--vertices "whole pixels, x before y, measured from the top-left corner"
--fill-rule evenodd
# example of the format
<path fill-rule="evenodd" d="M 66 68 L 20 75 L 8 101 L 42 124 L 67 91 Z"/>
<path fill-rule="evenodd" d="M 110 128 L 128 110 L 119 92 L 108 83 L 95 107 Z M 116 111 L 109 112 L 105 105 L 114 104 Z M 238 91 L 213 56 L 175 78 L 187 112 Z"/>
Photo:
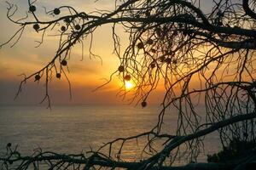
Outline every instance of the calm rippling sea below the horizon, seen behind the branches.
<path fill-rule="evenodd" d="M 38 147 L 60 153 L 96 150 L 103 143 L 150 130 L 157 122 L 160 107 L 133 105 L 0 106 L 0 152 L 7 143 L 18 144 L 24 154 Z M 175 130 L 176 116 L 167 117 L 168 128 Z M 218 136 L 206 139 L 205 155 L 219 149 Z M 123 155 L 137 159 L 136 142 L 125 145 Z"/>

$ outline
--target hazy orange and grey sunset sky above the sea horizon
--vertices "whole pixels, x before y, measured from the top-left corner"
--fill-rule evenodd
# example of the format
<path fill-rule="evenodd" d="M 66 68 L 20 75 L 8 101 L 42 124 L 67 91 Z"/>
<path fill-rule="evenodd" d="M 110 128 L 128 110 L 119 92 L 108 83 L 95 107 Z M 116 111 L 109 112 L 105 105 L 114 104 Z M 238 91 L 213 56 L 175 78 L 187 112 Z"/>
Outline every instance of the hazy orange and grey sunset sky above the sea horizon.
<path fill-rule="evenodd" d="M 19 10 L 16 14 L 17 18 L 26 14 L 28 10 L 27 0 L 9 0 L 9 2 L 19 6 Z M 202 5 L 207 7 L 207 2 L 212 2 L 212 0 L 202 1 Z M 89 13 L 96 9 L 111 10 L 114 8 L 114 1 L 44 0 L 37 1 L 35 5 L 38 11 L 43 11 L 43 7 L 53 9 L 61 5 L 71 5 L 79 11 Z M 2 23 L 0 25 L 0 43 L 8 41 L 9 37 L 19 29 L 19 26 L 15 26 L 7 19 L 7 7 L 8 4 L 5 3 L 5 1 L 0 2 L 0 20 Z M 118 32 L 121 37 L 122 48 L 125 48 L 128 38 L 123 30 L 119 29 Z M 32 28 L 26 28 L 15 47 L 10 48 L 10 43 L 0 49 L 0 105 L 38 105 L 41 99 L 44 98 L 44 82 L 37 83 L 31 80 L 25 84 L 19 98 L 14 101 L 15 93 L 22 80 L 22 77 L 18 75 L 24 73 L 28 76 L 38 71 L 55 55 L 58 38 L 47 36 L 44 39 L 44 43 L 39 48 L 35 48 L 35 46 L 38 45 L 36 41 L 40 41 L 40 39 L 40 34 L 35 32 Z M 94 34 L 93 52 L 102 57 L 102 64 L 100 59 L 89 58 L 89 41 L 85 41 L 84 44 L 84 59 L 81 60 L 81 46 L 77 44 L 73 49 L 72 58 L 68 60 L 70 70 L 68 78 L 72 83 L 73 98 L 69 98 L 67 81 L 63 77 L 61 80 L 54 78 L 53 81 L 49 83 L 49 94 L 53 105 L 127 103 L 116 95 L 121 86 L 121 82 L 119 82 L 116 76 L 108 86 L 96 92 L 92 92 L 97 86 L 106 82 L 106 78 L 116 71 L 119 66 L 119 60 L 113 54 L 111 26 L 101 26 Z M 157 103 L 161 97 L 162 95 L 156 92 L 153 94 L 151 102 Z"/>

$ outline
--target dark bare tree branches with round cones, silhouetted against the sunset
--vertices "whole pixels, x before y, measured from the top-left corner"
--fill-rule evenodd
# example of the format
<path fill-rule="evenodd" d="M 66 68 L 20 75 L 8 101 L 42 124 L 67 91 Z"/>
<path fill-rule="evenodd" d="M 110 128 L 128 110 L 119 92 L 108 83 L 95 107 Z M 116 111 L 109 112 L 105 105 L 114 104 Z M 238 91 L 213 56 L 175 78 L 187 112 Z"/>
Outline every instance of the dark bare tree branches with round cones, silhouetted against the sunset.
<path fill-rule="evenodd" d="M 49 81 L 54 75 L 56 78 L 67 77 L 73 46 L 83 44 L 88 38 L 92 42 L 98 26 L 112 25 L 114 54 L 120 62 L 113 75 L 119 75 L 124 83 L 135 82 L 133 99 L 141 102 L 143 107 L 148 105 L 148 96 L 160 82 L 164 82 L 165 96 L 160 101 L 162 110 L 158 123 L 148 132 L 115 139 L 87 155 L 60 155 L 37 150 L 33 156 L 20 156 L 9 144 L 7 155 L 0 159 L 3 169 L 9 169 L 13 162 L 18 163 L 18 169 L 37 169 L 41 161 L 46 162 L 49 169 L 244 169 L 255 162 L 254 145 L 247 154 L 250 159 L 244 156 L 228 163 L 170 166 L 182 154 L 188 157 L 188 161 L 196 161 L 203 147 L 203 137 L 214 131 L 218 132 L 224 149 L 236 139 L 255 144 L 254 1 L 212 1 L 212 8 L 207 10 L 201 7 L 200 0 L 120 0 L 115 1 L 113 11 L 97 10 L 90 14 L 71 6 L 49 11 L 45 8 L 45 14 L 53 16 L 48 20 L 37 14 L 38 3 L 28 0 L 26 17 L 19 20 L 14 19 L 17 6 L 8 3 L 7 17 L 20 29 L 0 47 L 16 38 L 15 45 L 26 27 L 33 27 L 42 35 L 38 45 L 44 42 L 45 32 L 58 30 L 59 47 L 49 64 L 25 76 L 17 95 L 28 79 L 43 80 L 46 82 L 44 100 L 50 105 Z M 117 26 L 122 26 L 130 35 L 124 53 L 120 51 L 119 35 L 115 31 Z M 96 56 L 91 51 L 91 44 L 89 54 Z M 205 106 L 203 115 L 201 105 Z M 171 114 L 168 110 L 171 107 L 177 109 L 176 133 L 162 128 L 166 115 Z M 122 161 L 124 144 L 143 137 L 147 138 L 143 152 L 148 156 L 142 161 Z M 162 147 L 155 147 L 155 142 L 161 142 Z M 106 149 L 108 152 L 102 151 Z"/>

